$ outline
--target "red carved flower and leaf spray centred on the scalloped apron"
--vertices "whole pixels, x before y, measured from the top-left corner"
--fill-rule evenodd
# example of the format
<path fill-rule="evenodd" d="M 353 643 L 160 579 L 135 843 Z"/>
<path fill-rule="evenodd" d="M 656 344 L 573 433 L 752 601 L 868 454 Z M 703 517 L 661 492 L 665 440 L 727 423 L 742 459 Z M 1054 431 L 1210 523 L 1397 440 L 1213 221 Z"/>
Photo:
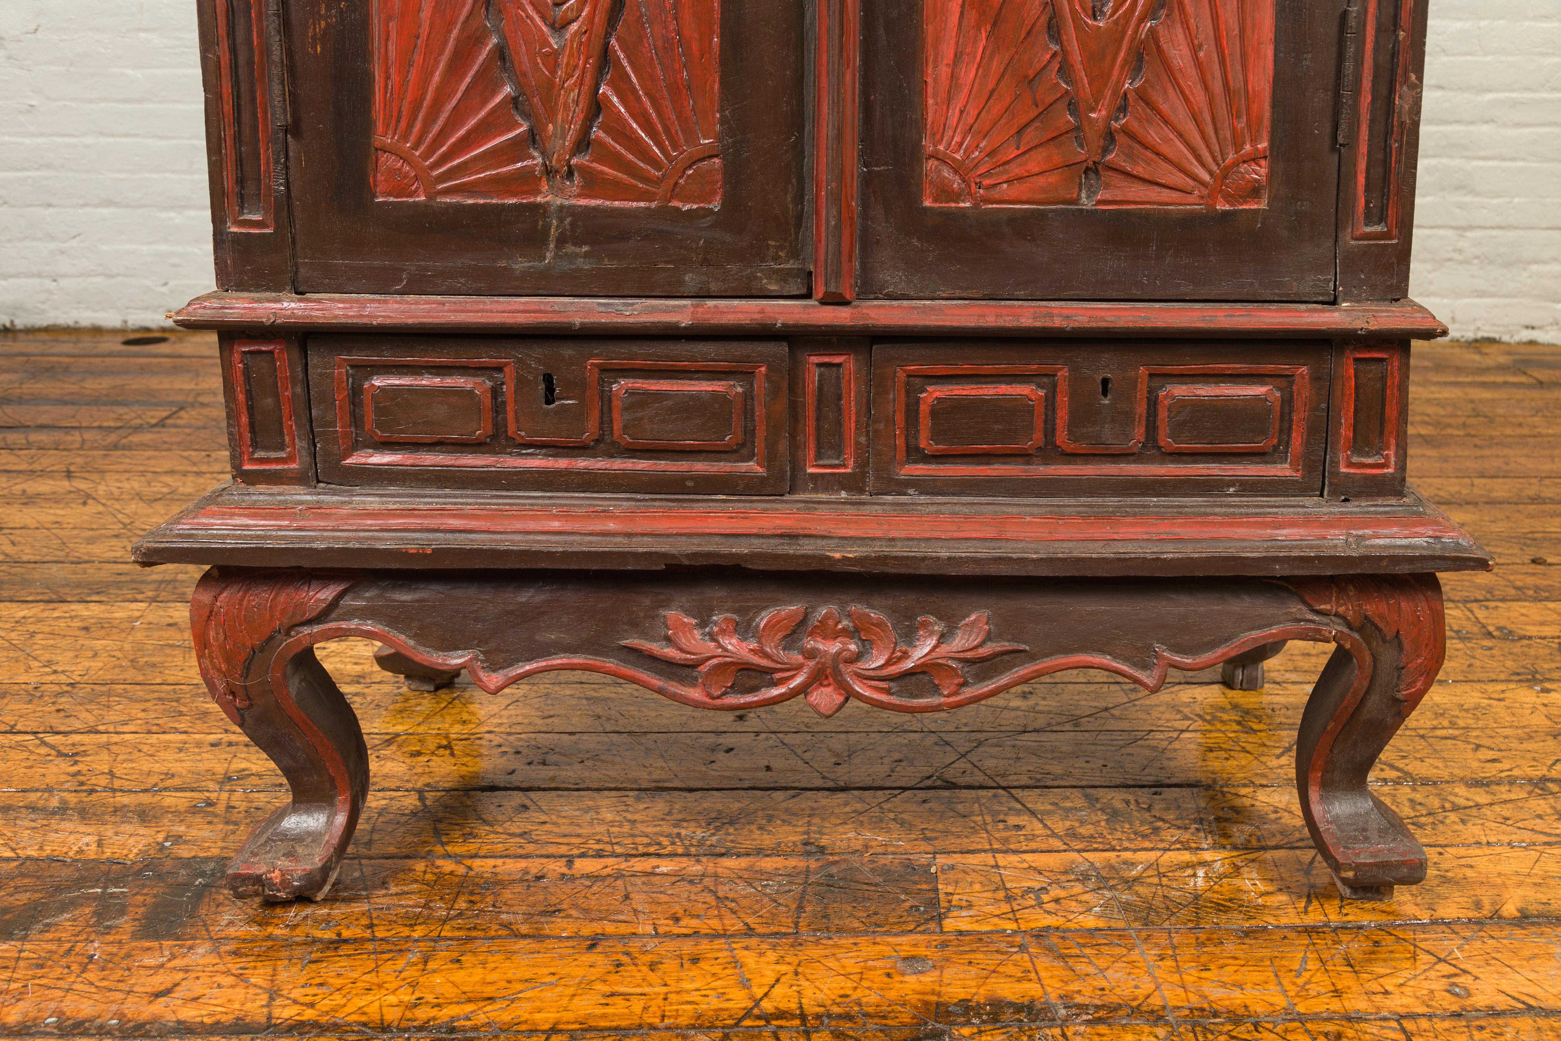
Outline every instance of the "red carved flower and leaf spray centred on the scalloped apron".
<path fill-rule="evenodd" d="M 930 676 L 943 696 L 951 698 L 965 687 L 965 665 L 1029 649 L 1018 643 L 988 643 L 987 612 L 962 621 L 948 638 L 943 623 L 918 618 L 915 641 L 902 646 L 888 618 L 865 607 L 848 607 L 845 616 L 840 609 L 826 607 L 802 632 L 801 643 L 788 648 L 807 613 L 807 607 L 777 607 L 759 620 L 754 638 L 745 640 L 731 615 L 716 618 L 701 634 L 693 618 L 668 612 L 663 618 L 671 646 L 643 640 L 626 640 L 624 646 L 674 665 L 696 666 L 699 687 L 710 698 L 727 693 L 738 673 L 768 673 L 774 677 L 776 695 L 805 695 L 807 704 L 823 716 L 840 712 L 849 698 L 887 698 L 890 680 L 912 673 Z"/>

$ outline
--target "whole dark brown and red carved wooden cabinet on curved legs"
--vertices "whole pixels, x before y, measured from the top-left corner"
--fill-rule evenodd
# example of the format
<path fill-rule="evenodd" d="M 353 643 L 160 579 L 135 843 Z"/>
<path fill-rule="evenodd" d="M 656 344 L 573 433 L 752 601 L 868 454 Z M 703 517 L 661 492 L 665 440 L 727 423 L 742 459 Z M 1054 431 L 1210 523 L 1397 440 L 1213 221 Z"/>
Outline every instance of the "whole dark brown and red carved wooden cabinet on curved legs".
<path fill-rule="evenodd" d="M 1489 565 L 1405 484 L 1424 0 L 198 6 L 234 481 L 134 554 L 214 565 L 293 791 L 236 891 L 329 885 L 367 760 L 308 648 L 368 634 L 823 715 L 1332 643 L 1307 826 L 1347 896 L 1424 876 L 1367 771 Z"/>

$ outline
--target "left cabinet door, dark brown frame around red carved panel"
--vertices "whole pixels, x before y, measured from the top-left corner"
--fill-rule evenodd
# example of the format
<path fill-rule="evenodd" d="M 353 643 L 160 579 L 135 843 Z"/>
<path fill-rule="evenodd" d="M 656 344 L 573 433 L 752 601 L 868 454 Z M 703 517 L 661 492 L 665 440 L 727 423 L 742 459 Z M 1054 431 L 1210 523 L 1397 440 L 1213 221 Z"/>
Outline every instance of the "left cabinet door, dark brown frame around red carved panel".
<path fill-rule="evenodd" d="M 793 295 L 799 0 L 297 0 L 303 292 Z"/>

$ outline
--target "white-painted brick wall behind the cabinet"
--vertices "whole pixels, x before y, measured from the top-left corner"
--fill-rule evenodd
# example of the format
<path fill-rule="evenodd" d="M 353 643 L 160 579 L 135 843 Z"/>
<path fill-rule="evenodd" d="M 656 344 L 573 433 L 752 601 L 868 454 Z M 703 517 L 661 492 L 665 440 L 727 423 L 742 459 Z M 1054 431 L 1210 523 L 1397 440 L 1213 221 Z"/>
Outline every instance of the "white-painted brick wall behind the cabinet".
<path fill-rule="evenodd" d="M 1411 292 L 1455 336 L 1561 343 L 1561 3 L 1431 3 Z M 211 289 L 201 133 L 192 0 L 0 0 L 0 326 Z"/>

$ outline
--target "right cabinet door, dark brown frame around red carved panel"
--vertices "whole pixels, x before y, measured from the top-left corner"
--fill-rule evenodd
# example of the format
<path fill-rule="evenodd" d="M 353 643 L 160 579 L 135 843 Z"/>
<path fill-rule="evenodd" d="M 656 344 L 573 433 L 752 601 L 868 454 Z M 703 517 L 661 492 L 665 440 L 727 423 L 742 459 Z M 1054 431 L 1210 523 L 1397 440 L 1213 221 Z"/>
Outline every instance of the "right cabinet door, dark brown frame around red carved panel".
<path fill-rule="evenodd" d="M 1332 300 L 1341 8 L 866 5 L 863 295 Z"/>

